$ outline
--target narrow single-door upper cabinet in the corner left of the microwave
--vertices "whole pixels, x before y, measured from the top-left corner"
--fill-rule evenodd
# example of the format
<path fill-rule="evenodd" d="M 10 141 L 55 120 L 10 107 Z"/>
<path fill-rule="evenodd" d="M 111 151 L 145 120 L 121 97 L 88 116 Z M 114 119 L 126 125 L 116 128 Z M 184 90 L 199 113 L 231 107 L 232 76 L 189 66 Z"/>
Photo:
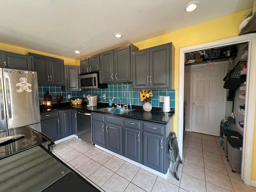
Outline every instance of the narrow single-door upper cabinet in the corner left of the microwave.
<path fill-rule="evenodd" d="M 78 82 L 79 66 L 65 66 L 66 90 L 80 90 Z"/>

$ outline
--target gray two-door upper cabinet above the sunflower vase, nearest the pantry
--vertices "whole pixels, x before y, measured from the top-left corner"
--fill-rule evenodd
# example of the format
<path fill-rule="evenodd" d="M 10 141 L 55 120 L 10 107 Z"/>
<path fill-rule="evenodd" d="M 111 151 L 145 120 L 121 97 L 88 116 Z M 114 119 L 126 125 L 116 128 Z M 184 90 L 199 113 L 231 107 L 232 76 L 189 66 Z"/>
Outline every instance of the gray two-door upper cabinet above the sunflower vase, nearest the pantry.
<path fill-rule="evenodd" d="M 132 53 L 133 89 L 171 89 L 174 46 L 172 43 Z"/>

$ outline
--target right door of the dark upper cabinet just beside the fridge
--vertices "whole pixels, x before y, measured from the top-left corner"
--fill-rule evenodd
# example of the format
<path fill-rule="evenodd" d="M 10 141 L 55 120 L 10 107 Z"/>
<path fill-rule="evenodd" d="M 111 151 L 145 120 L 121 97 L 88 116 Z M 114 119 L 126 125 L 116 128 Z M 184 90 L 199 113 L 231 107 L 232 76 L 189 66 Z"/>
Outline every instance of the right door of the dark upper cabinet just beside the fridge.
<path fill-rule="evenodd" d="M 64 85 L 64 60 L 49 58 L 51 85 Z"/>

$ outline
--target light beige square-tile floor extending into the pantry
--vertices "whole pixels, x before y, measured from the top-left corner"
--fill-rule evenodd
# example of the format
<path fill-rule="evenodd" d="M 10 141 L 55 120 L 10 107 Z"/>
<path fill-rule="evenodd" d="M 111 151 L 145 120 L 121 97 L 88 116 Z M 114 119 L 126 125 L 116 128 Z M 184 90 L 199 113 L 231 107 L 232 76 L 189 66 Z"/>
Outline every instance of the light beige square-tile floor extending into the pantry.
<path fill-rule="evenodd" d="M 231 171 L 220 138 L 185 132 L 183 144 L 179 181 L 172 170 L 164 179 L 77 138 L 56 144 L 53 153 L 102 192 L 256 192 Z"/>

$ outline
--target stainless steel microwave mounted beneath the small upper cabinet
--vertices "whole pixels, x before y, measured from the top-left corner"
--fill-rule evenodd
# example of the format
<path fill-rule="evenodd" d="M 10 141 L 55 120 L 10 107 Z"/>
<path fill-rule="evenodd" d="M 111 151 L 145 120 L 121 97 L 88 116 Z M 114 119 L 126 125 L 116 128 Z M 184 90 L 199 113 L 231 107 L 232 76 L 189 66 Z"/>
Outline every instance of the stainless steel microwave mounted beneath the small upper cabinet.
<path fill-rule="evenodd" d="M 108 88 L 108 84 L 99 83 L 99 74 L 96 72 L 90 74 L 80 74 L 79 82 L 81 89 Z"/>

